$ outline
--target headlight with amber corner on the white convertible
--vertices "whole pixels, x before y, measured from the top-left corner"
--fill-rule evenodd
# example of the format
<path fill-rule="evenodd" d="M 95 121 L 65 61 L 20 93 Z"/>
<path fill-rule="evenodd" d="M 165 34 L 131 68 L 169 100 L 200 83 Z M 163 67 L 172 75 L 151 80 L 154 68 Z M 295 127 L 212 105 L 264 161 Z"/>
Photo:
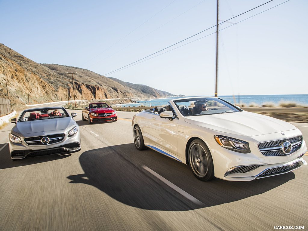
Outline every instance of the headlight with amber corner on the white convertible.
<path fill-rule="evenodd" d="M 228 136 L 214 136 L 216 142 L 224 148 L 235 152 L 249 153 L 249 143 L 243 140 L 237 140 Z"/>

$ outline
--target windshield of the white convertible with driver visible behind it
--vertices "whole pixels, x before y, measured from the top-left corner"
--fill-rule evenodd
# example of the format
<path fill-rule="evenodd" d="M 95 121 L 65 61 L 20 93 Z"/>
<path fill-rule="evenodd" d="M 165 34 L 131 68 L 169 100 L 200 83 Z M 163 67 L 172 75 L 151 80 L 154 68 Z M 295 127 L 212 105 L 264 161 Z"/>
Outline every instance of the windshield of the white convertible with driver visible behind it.
<path fill-rule="evenodd" d="M 177 99 L 174 100 L 174 103 L 184 116 L 213 115 L 242 111 L 231 103 L 215 97 Z"/>

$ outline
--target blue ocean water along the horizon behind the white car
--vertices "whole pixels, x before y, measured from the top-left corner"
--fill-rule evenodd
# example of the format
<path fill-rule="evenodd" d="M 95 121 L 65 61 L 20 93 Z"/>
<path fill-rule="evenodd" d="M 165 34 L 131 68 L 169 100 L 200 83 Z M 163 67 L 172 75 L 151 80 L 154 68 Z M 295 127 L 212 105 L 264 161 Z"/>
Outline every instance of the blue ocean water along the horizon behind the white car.
<path fill-rule="evenodd" d="M 245 105 L 249 107 L 251 104 L 256 106 L 262 106 L 264 104 L 273 104 L 279 106 L 280 103 L 296 103 L 302 106 L 308 106 L 308 95 L 222 95 L 218 96 L 232 104 Z M 172 97 L 172 98 L 159 98 L 159 99 L 148 99 L 146 101 L 137 101 L 137 103 L 118 104 L 114 106 L 122 107 L 156 107 L 166 106 L 170 99 L 177 99 L 183 97 Z"/>

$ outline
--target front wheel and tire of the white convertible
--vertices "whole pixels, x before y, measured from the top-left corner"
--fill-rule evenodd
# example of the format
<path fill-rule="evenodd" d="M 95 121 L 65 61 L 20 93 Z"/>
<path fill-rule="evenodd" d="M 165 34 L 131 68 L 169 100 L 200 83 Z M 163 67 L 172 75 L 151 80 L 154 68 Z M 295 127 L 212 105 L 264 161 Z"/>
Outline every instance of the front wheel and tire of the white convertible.
<path fill-rule="evenodd" d="M 212 155 L 203 141 L 194 140 L 189 145 L 188 159 L 190 169 L 197 179 L 209 181 L 215 178 Z"/>

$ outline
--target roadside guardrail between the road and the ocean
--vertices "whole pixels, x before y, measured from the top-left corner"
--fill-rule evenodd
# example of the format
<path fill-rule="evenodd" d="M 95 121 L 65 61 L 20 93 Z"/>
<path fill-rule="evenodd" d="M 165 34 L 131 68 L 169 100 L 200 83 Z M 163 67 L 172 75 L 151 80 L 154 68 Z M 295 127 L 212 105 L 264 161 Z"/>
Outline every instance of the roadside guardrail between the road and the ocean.
<path fill-rule="evenodd" d="M 112 107 L 115 110 L 147 110 L 154 107 Z M 308 114 L 308 107 L 241 107 L 250 112 L 274 112 L 274 113 L 304 113 Z"/>

